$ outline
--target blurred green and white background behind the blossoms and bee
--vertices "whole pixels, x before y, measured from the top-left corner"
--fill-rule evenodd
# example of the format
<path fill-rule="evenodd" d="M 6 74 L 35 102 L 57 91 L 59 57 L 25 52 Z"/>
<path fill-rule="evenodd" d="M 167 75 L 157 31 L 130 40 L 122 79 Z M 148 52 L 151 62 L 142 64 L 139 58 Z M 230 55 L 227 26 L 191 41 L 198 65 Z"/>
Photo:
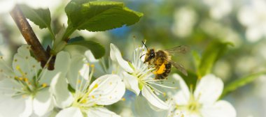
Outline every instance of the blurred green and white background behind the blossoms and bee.
<path fill-rule="evenodd" d="M 56 32 L 67 25 L 64 6 L 68 0 L 26 0 L 34 7 L 49 7 L 52 25 Z M 122 1 L 122 0 L 119 0 Z M 12 59 L 16 49 L 25 43 L 18 27 L 5 7 L 9 0 L 0 0 L 0 55 L 7 61 Z M 147 40 L 150 48 L 168 49 L 187 45 L 190 50 L 202 54 L 214 40 L 232 42 L 227 52 L 218 59 L 212 73 L 221 77 L 225 85 L 246 75 L 266 70 L 266 1 L 265 0 L 125 0 L 125 5 L 144 13 L 144 17 L 133 26 L 124 26 L 105 32 L 76 31 L 106 47 L 109 55 L 110 42 L 116 44 L 123 54 L 132 45 L 133 37 L 141 45 Z M 7 4 L 6 4 L 7 3 Z M 2 7 L 5 6 L 5 7 Z M 38 29 L 30 22 L 44 47 L 51 42 L 47 29 Z M 188 71 L 195 72 L 191 52 L 173 57 Z M 266 115 L 266 75 L 251 84 L 238 88 L 225 96 L 237 110 L 237 116 L 257 117 Z M 127 102 L 124 102 L 127 103 Z M 130 102 L 128 102 L 130 103 Z M 148 108 L 148 107 L 147 107 Z M 135 110 L 137 111 L 137 110 Z M 120 114 L 132 114 L 125 108 Z"/>

